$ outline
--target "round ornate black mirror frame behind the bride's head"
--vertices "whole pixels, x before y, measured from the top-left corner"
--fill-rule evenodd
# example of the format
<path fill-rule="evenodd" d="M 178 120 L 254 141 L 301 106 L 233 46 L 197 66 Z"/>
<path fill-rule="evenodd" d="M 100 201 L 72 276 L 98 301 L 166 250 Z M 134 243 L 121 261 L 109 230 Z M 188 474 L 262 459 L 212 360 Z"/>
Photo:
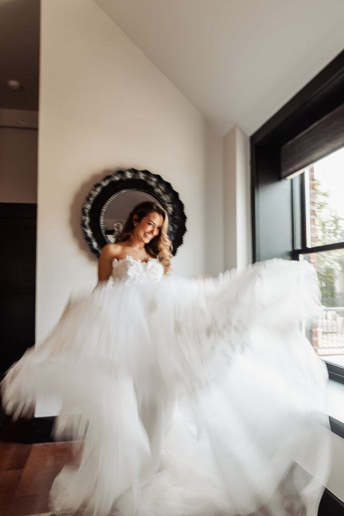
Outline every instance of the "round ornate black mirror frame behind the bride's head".
<path fill-rule="evenodd" d="M 173 245 L 173 255 L 183 243 L 186 232 L 184 204 L 171 184 L 160 175 L 148 170 L 118 170 L 106 175 L 96 183 L 87 195 L 81 208 L 81 229 L 90 250 L 99 256 L 103 247 L 110 243 L 104 227 L 104 212 L 108 204 L 120 193 L 138 190 L 154 197 L 166 210 L 169 217 L 169 237 Z"/>

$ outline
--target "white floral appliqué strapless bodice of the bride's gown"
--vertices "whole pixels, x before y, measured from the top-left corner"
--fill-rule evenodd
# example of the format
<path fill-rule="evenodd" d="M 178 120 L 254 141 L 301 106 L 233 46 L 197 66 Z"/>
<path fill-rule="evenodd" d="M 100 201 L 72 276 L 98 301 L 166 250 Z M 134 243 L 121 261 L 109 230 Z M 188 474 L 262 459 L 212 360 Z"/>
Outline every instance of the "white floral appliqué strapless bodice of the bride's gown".
<path fill-rule="evenodd" d="M 155 258 L 148 262 L 134 260 L 133 256 L 127 255 L 123 260 L 112 261 L 111 278 L 113 281 L 129 280 L 143 283 L 145 281 L 160 281 L 163 276 L 163 266 Z"/>

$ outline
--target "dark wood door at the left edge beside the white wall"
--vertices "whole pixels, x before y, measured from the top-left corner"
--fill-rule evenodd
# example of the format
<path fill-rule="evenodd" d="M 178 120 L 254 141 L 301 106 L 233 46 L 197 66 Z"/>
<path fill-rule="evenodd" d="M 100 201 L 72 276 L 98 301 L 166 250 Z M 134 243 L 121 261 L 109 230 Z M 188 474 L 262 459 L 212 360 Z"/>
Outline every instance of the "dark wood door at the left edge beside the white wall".
<path fill-rule="evenodd" d="M 35 344 L 36 211 L 0 203 L 0 375 Z"/>

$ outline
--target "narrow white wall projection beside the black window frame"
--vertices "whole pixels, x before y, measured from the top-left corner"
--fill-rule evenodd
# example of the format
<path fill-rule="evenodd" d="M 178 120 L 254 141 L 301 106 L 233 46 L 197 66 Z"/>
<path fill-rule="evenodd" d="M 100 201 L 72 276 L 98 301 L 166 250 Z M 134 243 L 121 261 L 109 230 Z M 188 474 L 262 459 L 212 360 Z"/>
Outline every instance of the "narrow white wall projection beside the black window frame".
<path fill-rule="evenodd" d="M 223 139 L 224 268 L 252 263 L 249 136 L 234 125 Z"/>

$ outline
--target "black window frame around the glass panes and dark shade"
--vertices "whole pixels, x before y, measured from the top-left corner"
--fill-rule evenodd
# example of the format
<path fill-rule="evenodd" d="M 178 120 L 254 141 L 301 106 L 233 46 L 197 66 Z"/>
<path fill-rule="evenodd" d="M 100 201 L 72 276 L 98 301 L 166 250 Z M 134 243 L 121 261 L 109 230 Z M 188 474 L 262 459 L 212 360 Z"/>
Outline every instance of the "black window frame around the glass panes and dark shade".
<path fill-rule="evenodd" d="M 292 139 L 344 103 L 344 51 L 302 88 L 250 138 L 253 262 L 273 257 L 344 247 L 343 243 L 308 248 L 305 208 L 294 212 L 302 194 L 296 182 L 281 175 L 281 150 Z M 309 164 L 310 165 L 310 164 Z M 282 208 L 283 206 L 283 208 Z M 296 225 L 301 223 L 301 237 Z M 344 367 L 326 362 L 330 379 L 344 383 Z"/>

